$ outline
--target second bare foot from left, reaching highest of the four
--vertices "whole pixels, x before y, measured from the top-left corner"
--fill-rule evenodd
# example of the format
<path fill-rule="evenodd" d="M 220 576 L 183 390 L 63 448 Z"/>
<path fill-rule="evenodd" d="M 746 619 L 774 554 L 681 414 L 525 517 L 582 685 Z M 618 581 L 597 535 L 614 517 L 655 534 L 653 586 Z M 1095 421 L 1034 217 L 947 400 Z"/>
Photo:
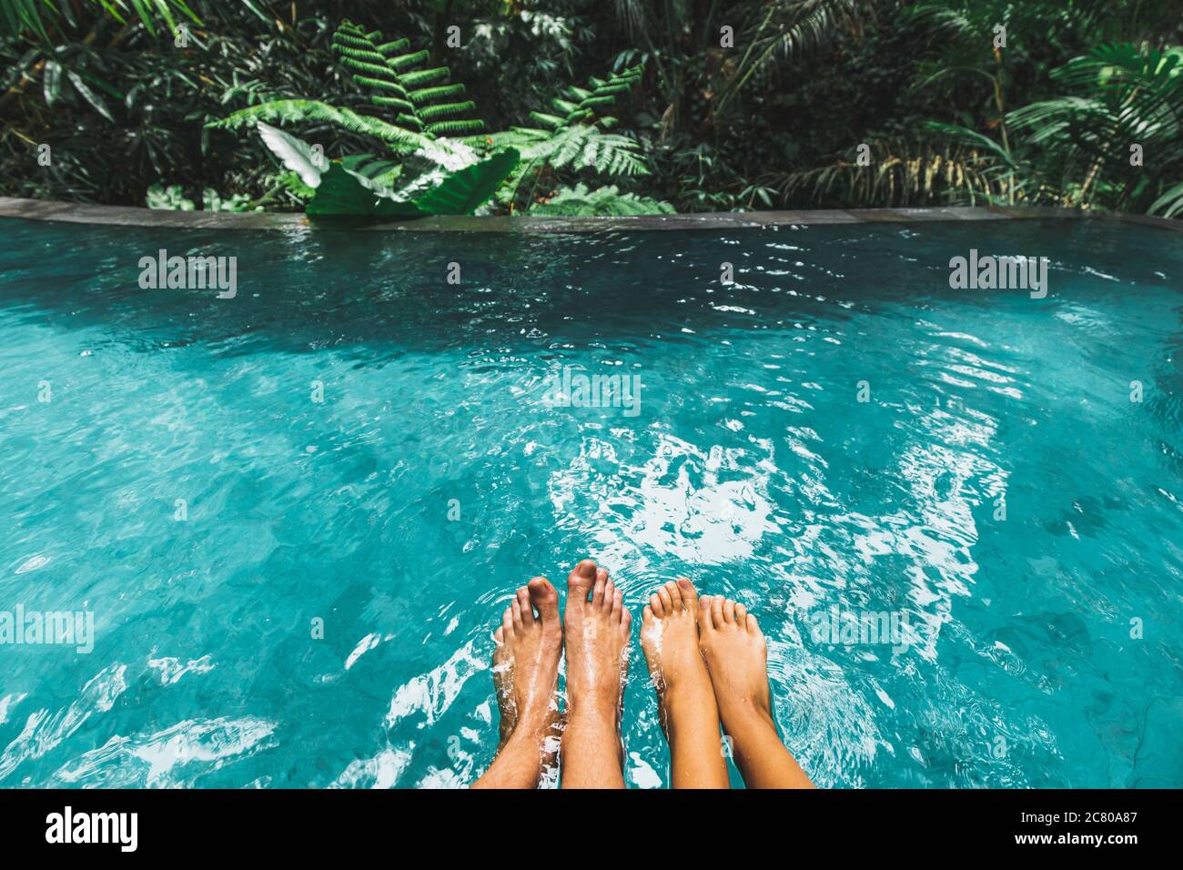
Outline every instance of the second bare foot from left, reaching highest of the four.
<path fill-rule="evenodd" d="M 608 572 L 590 559 L 567 578 L 564 788 L 623 788 L 620 715 L 633 618 Z"/>

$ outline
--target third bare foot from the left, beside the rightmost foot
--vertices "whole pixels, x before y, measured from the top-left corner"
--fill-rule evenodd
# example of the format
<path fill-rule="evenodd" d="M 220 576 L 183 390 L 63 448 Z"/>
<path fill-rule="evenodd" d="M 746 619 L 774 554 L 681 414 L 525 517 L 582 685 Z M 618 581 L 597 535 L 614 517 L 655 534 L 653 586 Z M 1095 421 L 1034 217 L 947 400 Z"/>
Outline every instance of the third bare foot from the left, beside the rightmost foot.
<path fill-rule="evenodd" d="M 726 788 L 719 714 L 698 643 L 698 592 L 685 578 L 649 595 L 641 619 L 641 649 L 670 741 L 674 788 Z"/>

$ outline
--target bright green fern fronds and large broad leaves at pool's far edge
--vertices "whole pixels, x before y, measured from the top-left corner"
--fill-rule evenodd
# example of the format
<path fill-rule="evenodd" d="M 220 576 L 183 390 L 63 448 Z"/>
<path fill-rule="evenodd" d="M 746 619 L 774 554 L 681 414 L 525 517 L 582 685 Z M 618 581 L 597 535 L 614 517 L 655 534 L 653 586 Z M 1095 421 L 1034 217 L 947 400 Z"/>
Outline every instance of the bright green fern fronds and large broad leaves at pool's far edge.
<path fill-rule="evenodd" d="M 464 99 L 465 89 L 451 82 L 446 66 L 426 66 L 429 52 L 411 51 L 407 39 L 384 41 L 379 31 L 344 21 L 334 36 L 334 50 L 387 121 L 315 99 L 277 99 L 240 109 L 211 128 L 235 129 L 254 124 L 264 143 L 312 192 L 312 215 L 373 215 L 416 218 L 426 214 L 471 213 L 509 179 L 499 201 L 512 207 L 522 182 L 532 191 L 548 170 L 593 169 L 607 176 L 647 172 L 636 143 L 606 133 L 615 118 L 597 111 L 612 107 L 640 76 L 639 69 L 592 78 L 588 88 L 568 88 L 554 99 L 562 114 L 531 112 L 544 129 L 512 128 L 476 135 L 484 124 Z M 267 122 L 329 123 L 380 140 L 396 163 L 374 154 L 323 160 L 323 152 Z M 483 157 L 483 159 L 481 159 Z M 601 207 L 607 195 L 601 200 Z M 636 208 L 633 200 L 621 208 Z"/>

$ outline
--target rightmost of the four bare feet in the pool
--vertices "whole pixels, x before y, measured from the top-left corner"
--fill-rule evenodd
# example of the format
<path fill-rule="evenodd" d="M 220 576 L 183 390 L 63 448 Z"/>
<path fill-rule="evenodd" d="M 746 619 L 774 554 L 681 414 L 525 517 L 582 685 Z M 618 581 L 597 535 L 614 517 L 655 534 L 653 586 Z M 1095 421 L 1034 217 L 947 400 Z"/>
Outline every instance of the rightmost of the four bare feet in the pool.
<path fill-rule="evenodd" d="M 768 644 L 756 617 L 722 595 L 698 600 L 698 637 L 723 732 L 749 788 L 812 788 L 772 718 Z"/>

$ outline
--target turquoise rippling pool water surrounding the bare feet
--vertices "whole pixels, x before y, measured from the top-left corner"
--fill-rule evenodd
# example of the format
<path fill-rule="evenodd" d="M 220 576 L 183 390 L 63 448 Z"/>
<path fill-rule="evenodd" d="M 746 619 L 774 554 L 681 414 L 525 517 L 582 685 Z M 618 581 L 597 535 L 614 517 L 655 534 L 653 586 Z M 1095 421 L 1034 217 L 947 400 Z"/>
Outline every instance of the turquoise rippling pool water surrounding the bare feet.
<path fill-rule="evenodd" d="M 467 784 L 499 611 L 584 555 L 744 601 L 820 785 L 1183 785 L 1178 234 L 0 230 L 0 612 L 93 619 L 0 645 L 0 786 Z M 664 785 L 635 644 L 626 702 Z"/>

